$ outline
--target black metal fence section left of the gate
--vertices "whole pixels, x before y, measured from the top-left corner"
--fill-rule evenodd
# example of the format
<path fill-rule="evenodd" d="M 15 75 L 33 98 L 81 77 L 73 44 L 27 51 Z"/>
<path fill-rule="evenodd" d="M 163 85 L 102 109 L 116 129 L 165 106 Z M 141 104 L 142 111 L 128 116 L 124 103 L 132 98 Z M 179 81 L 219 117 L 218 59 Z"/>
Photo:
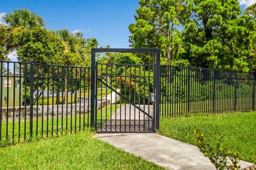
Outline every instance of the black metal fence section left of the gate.
<path fill-rule="evenodd" d="M 1 61 L 0 142 L 89 127 L 90 69 Z"/>

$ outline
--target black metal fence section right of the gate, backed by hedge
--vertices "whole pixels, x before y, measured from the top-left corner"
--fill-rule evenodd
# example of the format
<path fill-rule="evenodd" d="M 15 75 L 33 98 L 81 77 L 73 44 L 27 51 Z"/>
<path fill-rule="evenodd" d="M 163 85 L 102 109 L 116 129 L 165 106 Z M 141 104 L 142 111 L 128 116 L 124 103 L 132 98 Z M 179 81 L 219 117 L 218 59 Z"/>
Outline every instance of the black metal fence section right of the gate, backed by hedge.
<path fill-rule="evenodd" d="M 161 66 L 160 114 L 231 113 L 255 110 L 255 73 Z"/>

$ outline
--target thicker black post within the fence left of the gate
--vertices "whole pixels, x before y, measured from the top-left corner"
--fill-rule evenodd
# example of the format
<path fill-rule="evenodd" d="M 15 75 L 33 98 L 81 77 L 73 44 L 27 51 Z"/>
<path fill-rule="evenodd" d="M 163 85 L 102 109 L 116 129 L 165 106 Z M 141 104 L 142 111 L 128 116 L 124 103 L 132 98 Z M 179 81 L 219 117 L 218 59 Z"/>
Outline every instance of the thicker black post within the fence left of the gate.
<path fill-rule="evenodd" d="M 33 85 L 34 85 L 34 60 L 30 61 L 30 137 L 33 135 Z"/>

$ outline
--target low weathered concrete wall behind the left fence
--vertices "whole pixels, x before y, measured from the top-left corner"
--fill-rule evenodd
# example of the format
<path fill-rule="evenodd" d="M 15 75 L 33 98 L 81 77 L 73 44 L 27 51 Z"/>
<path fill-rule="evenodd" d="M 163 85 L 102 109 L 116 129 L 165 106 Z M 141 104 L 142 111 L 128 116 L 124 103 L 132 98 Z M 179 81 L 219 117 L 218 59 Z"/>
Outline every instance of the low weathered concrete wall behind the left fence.
<path fill-rule="evenodd" d="M 107 105 L 110 104 L 110 100 L 102 100 L 102 102 L 97 102 L 97 109 L 100 109 L 101 107 L 105 107 Z M 47 114 L 49 116 L 49 118 L 52 117 L 52 114 L 54 117 L 57 117 L 57 114 L 59 117 L 63 116 L 66 117 L 67 115 L 69 116 L 71 114 L 71 108 L 72 108 L 72 115 L 76 114 L 88 114 L 88 112 L 90 112 L 91 110 L 91 104 L 90 103 L 86 103 L 84 104 L 65 104 L 65 105 L 49 105 L 49 106 L 33 106 L 33 119 L 36 118 L 36 116 L 38 115 L 38 118 L 42 118 L 42 115 L 44 118 L 47 117 Z M 63 112 L 62 112 L 63 109 Z M 68 111 L 67 111 L 68 109 Z M 26 111 L 25 111 L 26 110 Z M 18 121 L 19 120 L 19 114 L 20 114 L 20 119 L 24 120 L 25 119 L 25 112 L 26 112 L 26 119 L 29 119 L 30 117 L 30 106 L 27 106 L 25 109 L 25 106 L 21 106 L 21 107 L 8 107 L 8 113 L 7 113 L 7 107 L 2 107 L 2 121 L 5 122 L 6 121 L 6 117 L 8 116 L 8 121 L 12 121 L 13 119 L 13 115 L 14 115 L 14 121 Z"/>

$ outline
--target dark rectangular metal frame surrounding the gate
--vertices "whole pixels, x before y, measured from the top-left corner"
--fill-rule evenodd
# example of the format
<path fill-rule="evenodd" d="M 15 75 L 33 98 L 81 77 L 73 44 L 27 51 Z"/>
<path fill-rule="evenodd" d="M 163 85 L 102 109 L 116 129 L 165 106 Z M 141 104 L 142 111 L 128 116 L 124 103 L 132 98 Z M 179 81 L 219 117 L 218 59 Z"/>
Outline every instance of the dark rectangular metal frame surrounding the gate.
<path fill-rule="evenodd" d="M 159 130 L 159 107 L 160 107 L 160 49 L 100 49 L 92 48 L 91 50 L 91 122 L 90 125 L 96 129 L 95 115 L 95 100 L 97 96 L 95 90 L 97 88 L 97 78 L 96 78 L 96 53 L 156 53 L 156 67 L 154 70 L 154 81 L 156 82 L 156 108 L 155 108 L 155 129 Z"/>

